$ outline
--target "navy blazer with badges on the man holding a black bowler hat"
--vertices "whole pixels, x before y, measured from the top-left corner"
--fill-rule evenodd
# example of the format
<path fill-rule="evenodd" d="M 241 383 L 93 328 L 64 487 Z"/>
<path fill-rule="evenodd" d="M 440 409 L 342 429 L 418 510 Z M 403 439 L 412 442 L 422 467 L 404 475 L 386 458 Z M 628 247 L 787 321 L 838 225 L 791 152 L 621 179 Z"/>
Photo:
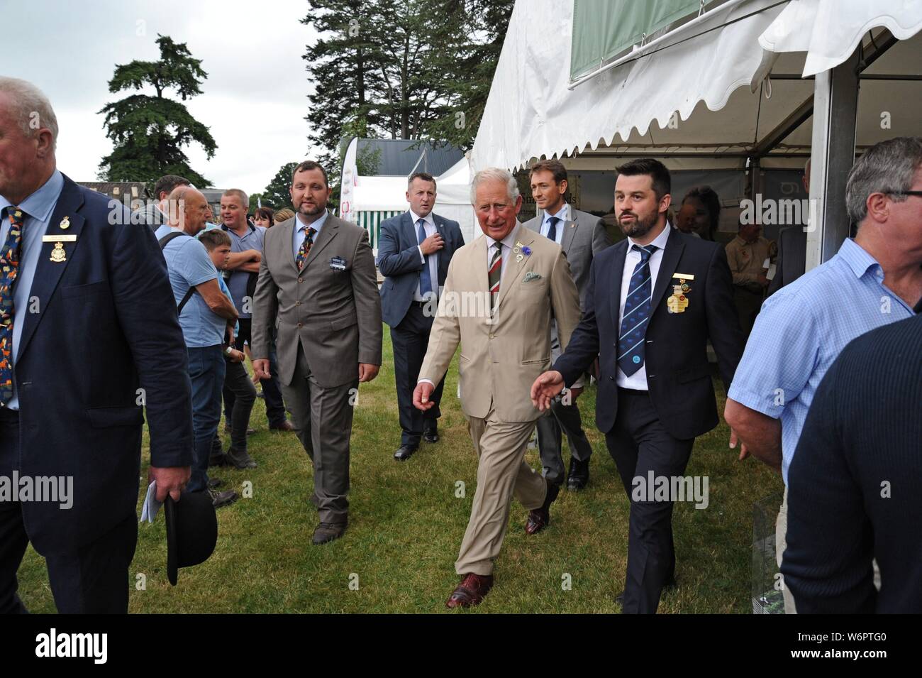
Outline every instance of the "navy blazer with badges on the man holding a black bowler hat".
<path fill-rule="evenodd" d="M 30 291 L 39 312 L 17 314 L 19 473 L 74 479 L 70 509 L 22 504 L 39 553 L 77 548 L 136 515 L 140 403 L 151 463 L 192 463 L 185 342 L 166 263 L 153 232 L 129 219 L 117 201 L 65 177 L 47 234 L 77 242 L 64 243 L 60 263 L 53 242 L 41 245 Z"/>

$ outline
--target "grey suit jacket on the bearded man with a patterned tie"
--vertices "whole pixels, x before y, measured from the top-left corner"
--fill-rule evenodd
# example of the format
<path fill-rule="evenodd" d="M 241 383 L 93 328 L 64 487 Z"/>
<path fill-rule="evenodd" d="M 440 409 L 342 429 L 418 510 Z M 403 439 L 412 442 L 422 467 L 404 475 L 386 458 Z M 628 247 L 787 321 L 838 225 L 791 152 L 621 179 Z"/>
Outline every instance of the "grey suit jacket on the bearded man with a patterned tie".
<path fill-rule="evenodd" d="M 301 270 L 295 265 L 295 217 L 266 231 L 253 300 L 254 359 L 269 355 L 278 327 L 278 378 L 290 385 L 298 346 L 321 387 L 358 379 L 359 363 L 381 364 L 381 297 L 368 233 L 328 215 Z M 334 267 L 336 263 L 344 269 Z"/>

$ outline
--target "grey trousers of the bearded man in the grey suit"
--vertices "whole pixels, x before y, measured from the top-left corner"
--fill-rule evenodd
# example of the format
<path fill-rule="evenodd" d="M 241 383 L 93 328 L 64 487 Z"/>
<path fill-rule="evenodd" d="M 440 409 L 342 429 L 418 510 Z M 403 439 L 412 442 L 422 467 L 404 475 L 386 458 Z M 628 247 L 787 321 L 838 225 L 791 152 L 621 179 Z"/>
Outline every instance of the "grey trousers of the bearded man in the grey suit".
<path fill-rule="evenodd" d="M 324 523 L 344 523 L 349 515 L 349 437 L 359 387 L 358 364 L 355 371 L 354 382 L 322 387 L 313 378 L 299 346 L 291 384 L 281 384 L 291 410 L 291 425 L 313 462 L 311 502 Z"/>

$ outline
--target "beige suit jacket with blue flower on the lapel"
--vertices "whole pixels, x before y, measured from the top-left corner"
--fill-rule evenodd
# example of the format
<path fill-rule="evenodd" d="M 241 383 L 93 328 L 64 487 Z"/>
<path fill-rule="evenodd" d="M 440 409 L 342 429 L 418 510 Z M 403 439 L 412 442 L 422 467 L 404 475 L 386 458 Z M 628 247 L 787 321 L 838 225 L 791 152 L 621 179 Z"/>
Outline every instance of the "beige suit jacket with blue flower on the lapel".
<path fill-rule="evenodd" d="M 560 245 L 521 224 L 515 227 L 514 242 L 529 247 L 531 254 L 520 251 L 519 261 L 514 252 L 507 255 L 492 316 L 487 238 L 479 237 L 455 252 L 420 380 L 438 384 L 460 344 L 465 414 L 484 419 L 495 409 L 501 422 L 533 422 L 542 412 L 531 404 L 531 385 L 550 369 L 551 314 L 565 348 L 580 320 L 579 294 Z"/>

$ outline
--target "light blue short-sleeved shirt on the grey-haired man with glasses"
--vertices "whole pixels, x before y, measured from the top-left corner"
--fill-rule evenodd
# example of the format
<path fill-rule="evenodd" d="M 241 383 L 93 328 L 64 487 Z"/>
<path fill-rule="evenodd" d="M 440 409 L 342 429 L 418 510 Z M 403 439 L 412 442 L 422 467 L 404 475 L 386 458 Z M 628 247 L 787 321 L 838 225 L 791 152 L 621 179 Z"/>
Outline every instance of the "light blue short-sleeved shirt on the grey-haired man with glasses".
<path fill-rule="evenodd" d="M 884 287 L 881 265 L 851 238 L 765 300 L 727 396 L 781 419 L 785 483 L 810 403 L 839 352 L 865 332 L 913 315 Z"/>

